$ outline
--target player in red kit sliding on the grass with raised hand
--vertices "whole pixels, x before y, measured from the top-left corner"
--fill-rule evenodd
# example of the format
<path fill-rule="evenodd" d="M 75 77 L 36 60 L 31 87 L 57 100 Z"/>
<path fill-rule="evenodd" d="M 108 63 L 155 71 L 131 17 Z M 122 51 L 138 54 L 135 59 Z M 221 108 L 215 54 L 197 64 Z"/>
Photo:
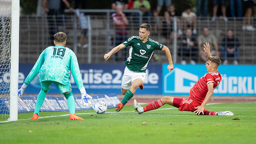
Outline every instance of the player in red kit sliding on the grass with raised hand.
<path fill-rule="evenodd" d="M 133 106 L 135 113 L 141 114 L 146 111 L 157 109 L 164 104 L 169 104 L 179 108 L 180 111 L 191 111 L 198 115 L 234 115 L 230 111 L 215 112 L 204 109 L 213 94 L 213 90 L 217 88 L 221 82 L 221 75 L 218 72 L 218 66 L 221 63 L 220 58 L 211 55 L 209 43 L 206 43 L 204 47 L 204 51 L 208 55 L 208 61 L 206 64 L 207 73 L 203 77 L 199 78 L 196 84 L 190 89 L 189 98 L 164 96 L 145 107 L 141 107 L 136 100 L 134 100 Z"/>

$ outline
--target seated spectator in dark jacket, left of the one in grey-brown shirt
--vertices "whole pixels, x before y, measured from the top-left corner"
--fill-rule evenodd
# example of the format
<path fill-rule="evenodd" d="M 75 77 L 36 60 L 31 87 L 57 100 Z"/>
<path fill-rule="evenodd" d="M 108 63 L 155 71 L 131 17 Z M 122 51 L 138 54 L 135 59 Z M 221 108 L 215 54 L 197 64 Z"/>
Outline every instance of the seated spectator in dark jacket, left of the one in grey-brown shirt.
<path fill-rule="evenodd" d="M 186 35 L 182 39 L 179 49 L 179 56 L 182 58 L 181 64 L 185 65 L 185 57 L 190 58 L 190 64 L 196 64 L 195 59 L 198 49 L 196 47 L 196 35 L 192 34 L 191 29 L 186 30 Z"/>

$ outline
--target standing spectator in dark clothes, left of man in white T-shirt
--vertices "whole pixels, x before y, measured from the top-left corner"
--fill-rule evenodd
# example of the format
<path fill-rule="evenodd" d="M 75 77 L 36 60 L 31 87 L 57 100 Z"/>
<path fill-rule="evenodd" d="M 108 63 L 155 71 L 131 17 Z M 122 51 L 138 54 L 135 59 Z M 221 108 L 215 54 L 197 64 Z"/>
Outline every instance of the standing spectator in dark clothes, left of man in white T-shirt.
<path fill-rule="evenodd" d="M 180 37 L 180 35 L 182 34 L 180 19 L 177 17 L 178 13 L 175 10 L 174 4 L 171 4 L 170 6 L 167 7 L 167 11 L 164 12 L 164 16 L 165 16 L 166 27 L 167 27 L 166 31 L 167 31 L 167 34 L 170 35 L 169 43 L 171 44 L 173 39 L 173 34 L 174 34 L 173 25 L 172 25 L 173 17 L 176 17 L 176 20 L 177 20 L 177 28 L 178 28 L 177 37 Z"/>

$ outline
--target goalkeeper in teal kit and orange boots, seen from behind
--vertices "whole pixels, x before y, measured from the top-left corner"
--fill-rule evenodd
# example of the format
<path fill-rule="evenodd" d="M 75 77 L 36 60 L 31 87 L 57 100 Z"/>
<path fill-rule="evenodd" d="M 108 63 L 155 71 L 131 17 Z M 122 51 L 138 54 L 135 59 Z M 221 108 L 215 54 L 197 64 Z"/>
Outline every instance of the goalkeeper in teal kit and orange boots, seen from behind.
<path fill-rule="evenodd" d="M 38 94 L 35 111 L 31 120 L 38 120 L 39 110 L 44 103 L 45 95 L 49 91 L 51 83 L 54 83 L 59 88 L 59 91 L 66 97 L 70 112 L 70 120 L 84 120 L 75 115 L 75 100 L 69 81 L 69 70 L 71 70 L 73 78 L 81 92 L 81 104 L 82 102 L 87 106 L 88 103 L 92 104 L 89 100 L 89 98 L 91 99 L 92 97 L 86 93 L 83 86 L 76 55 L 71 49 L 64 47 L 66 40 L 67 35 L 63 32 L 58 32 L 54 35 L 55 46 L 47 47 L 40 54 L 36 64 L 28 74 L 21 88 L 18 90 L 18 96 L 21 98 L 27 85 L 39 73 L 42 89 Z"/>

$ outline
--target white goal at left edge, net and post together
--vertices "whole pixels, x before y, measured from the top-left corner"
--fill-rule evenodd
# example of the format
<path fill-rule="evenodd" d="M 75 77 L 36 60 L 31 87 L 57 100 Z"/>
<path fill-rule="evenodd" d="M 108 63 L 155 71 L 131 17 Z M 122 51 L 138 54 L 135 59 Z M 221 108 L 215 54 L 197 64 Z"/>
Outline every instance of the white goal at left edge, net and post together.
<path fill-rule="evenodd" d="M 19 0 L 0 0 L 0 121 L 17 120 Z"/>

